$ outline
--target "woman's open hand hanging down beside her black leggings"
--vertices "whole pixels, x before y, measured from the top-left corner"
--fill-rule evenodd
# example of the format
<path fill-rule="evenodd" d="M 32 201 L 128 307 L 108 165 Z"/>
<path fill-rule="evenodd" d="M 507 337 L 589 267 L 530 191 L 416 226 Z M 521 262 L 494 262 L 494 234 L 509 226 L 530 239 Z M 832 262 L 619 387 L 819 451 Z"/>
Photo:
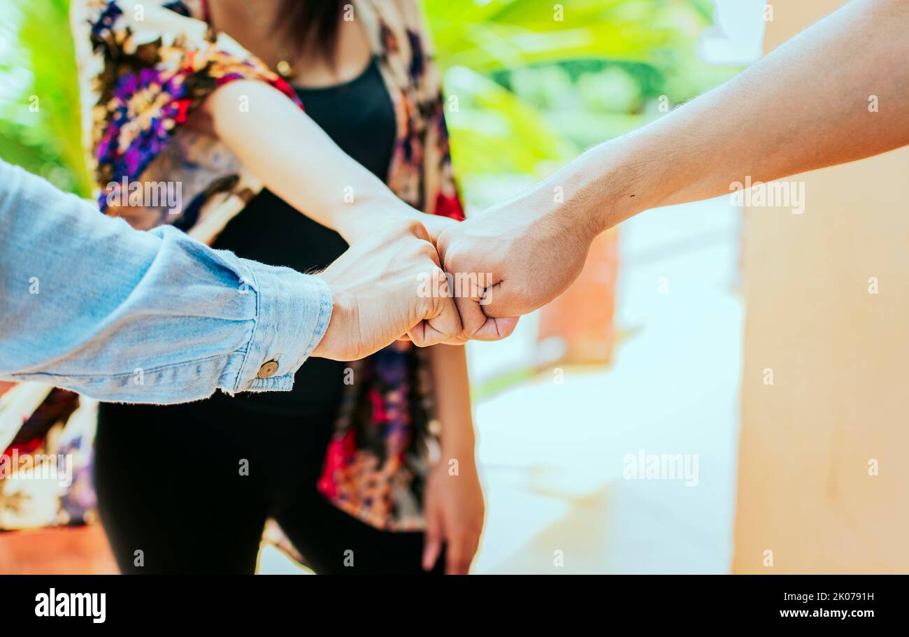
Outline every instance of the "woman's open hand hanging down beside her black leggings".
<path fill-rule="evenodd" d="M 460 462 L 456 475 L 448 473 L 446 463 L 433 468 L 426 482 L 424 515 L 424 570 L 432 570 L 445 542 L 445 573 L 466 575 L 480 542 L 484 516 L 483 491 L 473 461 Z"/>

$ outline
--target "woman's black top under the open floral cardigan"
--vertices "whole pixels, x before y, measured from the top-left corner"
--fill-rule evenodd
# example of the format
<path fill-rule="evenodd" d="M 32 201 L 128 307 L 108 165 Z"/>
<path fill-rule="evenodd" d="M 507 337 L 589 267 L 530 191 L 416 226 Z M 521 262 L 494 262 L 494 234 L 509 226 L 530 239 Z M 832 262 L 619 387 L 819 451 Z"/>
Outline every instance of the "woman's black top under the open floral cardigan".
<path fill-rule="evenodd" d="M 335 144 L 385 182 L 395 147 L 395 108 L 375 58 L 361 75 L 345 84 L 295 91 L 306 114 Z M 264 189 L 231 219 L 213 247 L 264 264 L 309 272 L 327 267 L 344 253 L 347 244 L 334 230 Z M 215 396 L 265 413 L 327 418 L 335 414 L 341 401 L 347 366 L 310 358 L 296 373 L 291 392 L 245 392 L 233 399 L 225 394 Z"/>

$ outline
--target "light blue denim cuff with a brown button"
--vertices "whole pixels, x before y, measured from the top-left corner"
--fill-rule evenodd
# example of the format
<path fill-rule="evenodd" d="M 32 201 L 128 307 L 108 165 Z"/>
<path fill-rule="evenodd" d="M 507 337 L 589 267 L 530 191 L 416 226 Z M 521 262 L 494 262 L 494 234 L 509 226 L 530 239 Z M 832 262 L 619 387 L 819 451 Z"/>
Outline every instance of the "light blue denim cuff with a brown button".
<path fill-rule="evenodd" d="M 249 274 L 242 283 L 255 294 L 258 318 L 234 392 L 289 391 L 294 374 L 325 335 L 332 291 L 322 279 L 290 268 L 243 265 Z"/>

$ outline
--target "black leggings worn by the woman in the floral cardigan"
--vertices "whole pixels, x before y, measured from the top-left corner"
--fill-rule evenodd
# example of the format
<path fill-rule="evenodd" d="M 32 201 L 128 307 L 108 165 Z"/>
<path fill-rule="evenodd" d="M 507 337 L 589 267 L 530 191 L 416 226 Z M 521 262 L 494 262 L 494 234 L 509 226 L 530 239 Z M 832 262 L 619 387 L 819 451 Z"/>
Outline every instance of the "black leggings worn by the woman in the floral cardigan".
<path fill-rule="evenodd" d="M 331 419 L 236 403 L 101 405 L 95 489 L 122 572 L 255 572 L 269 516 L 315 572 L 423 572 L 422 532 L 377 530 L 316 491 Z"/>

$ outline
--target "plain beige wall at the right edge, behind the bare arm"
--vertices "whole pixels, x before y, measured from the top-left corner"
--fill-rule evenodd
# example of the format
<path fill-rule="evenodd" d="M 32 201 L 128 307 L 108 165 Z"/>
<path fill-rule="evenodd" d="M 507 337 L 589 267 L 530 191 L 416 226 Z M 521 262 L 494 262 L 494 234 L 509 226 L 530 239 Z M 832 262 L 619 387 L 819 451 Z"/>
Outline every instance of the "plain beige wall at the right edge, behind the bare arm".
<path fill-rule="evenodd" d="M 844 2 L 772 4 L 767 50 Z M 748 213 L 733 572 L 909 572 L 909 148 L 793 179 Z"/>

